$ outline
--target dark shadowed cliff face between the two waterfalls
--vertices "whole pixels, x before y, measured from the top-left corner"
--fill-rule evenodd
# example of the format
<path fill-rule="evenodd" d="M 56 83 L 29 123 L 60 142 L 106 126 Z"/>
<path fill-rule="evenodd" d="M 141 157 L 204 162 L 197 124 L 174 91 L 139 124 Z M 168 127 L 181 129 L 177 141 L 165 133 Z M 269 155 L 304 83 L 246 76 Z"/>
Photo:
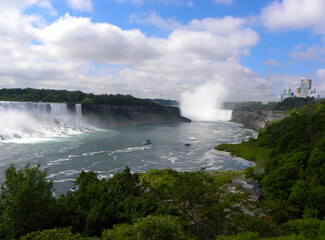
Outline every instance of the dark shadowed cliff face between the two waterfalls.
<path fill-rule="evenodd" d="M 100 127 L 118 127 L 142 123 L 190 122 L 178 107 L 85 104 L 82 113 Z"/>

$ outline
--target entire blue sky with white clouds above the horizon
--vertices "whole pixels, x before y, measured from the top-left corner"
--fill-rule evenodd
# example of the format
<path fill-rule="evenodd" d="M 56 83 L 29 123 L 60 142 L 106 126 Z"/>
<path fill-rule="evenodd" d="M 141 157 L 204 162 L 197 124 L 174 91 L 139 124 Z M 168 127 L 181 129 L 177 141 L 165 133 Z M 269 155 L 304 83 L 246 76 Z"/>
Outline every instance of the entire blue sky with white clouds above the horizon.
<path fill-rule="evenodd" d="M 267 102 L 303 78 L 325 96 L 324 0 L 0 1 L 0 88 Z"/>

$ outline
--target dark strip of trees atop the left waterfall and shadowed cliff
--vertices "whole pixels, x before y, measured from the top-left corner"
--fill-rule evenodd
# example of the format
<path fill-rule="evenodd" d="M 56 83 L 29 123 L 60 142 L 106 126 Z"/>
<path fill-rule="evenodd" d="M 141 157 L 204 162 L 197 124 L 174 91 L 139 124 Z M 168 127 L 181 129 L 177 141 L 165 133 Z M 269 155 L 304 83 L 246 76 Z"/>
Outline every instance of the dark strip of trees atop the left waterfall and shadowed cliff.
<path fill-rule="evenodd" d="M 21 102 L 72 102 L 82 104 L 114 104 L 114 105 L 139 105 L 159 106 L 150 99 L 135 98 L 131 95 L 83 93 L 81 91 L 12 88 L 0 89 L 0 101 Z"/>

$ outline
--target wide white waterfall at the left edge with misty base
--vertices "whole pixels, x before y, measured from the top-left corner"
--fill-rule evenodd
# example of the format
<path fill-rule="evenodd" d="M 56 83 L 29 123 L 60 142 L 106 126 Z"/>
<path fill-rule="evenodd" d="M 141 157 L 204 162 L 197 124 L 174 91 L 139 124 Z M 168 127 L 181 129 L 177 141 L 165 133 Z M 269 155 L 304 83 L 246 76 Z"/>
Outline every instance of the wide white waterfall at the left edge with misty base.
<path fill-rule="evenodd" d="M 90 129 L 80 104 L 0 101 L 0 141 L 31 142 Z"/>

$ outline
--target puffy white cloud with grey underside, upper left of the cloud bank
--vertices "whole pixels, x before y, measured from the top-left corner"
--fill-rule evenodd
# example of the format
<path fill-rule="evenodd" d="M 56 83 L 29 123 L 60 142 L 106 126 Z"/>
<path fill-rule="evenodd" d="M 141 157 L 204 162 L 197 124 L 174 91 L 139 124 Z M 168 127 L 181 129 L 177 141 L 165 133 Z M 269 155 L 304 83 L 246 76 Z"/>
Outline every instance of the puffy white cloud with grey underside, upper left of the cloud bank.
<path fill-rule="evenodd" d="M 38 37 L 43 45 L 35 49 L 55 59 L 132 64 L 157 54 L 154 43 L 139 30 L 122 30 L 69 14 L 39 31 Z"/>

